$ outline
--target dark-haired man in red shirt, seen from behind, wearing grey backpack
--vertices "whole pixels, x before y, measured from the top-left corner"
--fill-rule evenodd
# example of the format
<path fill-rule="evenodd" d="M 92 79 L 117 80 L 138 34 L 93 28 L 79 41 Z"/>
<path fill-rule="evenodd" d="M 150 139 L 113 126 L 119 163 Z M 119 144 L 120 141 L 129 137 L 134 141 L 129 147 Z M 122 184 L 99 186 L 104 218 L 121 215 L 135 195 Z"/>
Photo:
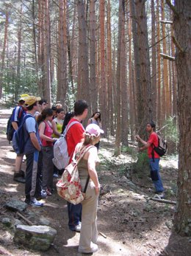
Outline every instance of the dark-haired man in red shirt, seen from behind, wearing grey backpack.
<path fill-rule="evenodd" d="M 76 122 L 71 126 L 66 134 L 66 141 L 68 145 L 68 156 L 73 157 L 73 152 L 76 145 L 82 141 L 84 134 L 84 127 L 82 126 L 82 120 L 87 117 L 87 102 L 85 100 L 78 100 L 74 104 L 74 117 L 68 122 Z M 70 163 L 69 162 L 69 163 Z M 80 232 L 81 219 L 82 219 L 82 204 L 71 204 L 68 202 L 68 226 L 72 231 Z"/>

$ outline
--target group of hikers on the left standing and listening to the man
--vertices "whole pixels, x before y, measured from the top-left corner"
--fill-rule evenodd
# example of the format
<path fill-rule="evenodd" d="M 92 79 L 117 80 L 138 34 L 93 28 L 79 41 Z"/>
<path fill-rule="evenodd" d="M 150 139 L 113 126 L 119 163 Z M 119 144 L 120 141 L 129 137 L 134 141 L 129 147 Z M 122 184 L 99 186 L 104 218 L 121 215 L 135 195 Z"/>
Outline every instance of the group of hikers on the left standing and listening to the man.
<path fill-rule="evenodd" d="M 16 156 L 13 179 L 25 182 L 26 204 L 43 207 L 40 198 L 46 198 L 53 193 L 54 142 L 73 122 L 65 135 L 70 162 L 74 151 L 81 151 L 87 145 L 92 147 L 79 162 L 82 190 L 88 175 L 90 181 L 82 204 L 73 205 L 68 202 L 68 226 L 71 231 L 80 232 L 79 252 L 92 253 L 98 250 L 96 218 L 100 184 L 95 166 L 98 164 L 98 142 L 104 131 L 99 126 L 100 112 L 93 114 L 88 121 L 90 124 L 84 129 L 82 121 L 87 117 L 87 108 L 86 101 L 78 100 L 74 104 L 73 113 L 68 112 L 65 115 L 62 105 L 58 108 L 56 106 L 56 109 L 48 108 L 46 100 L 22 94 L 18 107 L 13 110 L 12 125 L 14 122 L 17 123 L 15 130 L 23 125 L 25 146 L 24 153 Z M 26 156 L 25 173 L 21 170 L 24 155 Z"/>

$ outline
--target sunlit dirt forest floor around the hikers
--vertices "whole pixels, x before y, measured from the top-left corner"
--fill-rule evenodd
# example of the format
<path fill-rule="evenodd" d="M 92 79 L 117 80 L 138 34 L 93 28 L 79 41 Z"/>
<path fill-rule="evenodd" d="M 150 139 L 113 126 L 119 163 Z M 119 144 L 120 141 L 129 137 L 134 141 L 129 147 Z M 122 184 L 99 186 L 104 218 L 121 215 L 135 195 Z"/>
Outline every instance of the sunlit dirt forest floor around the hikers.
<path fill-rule="evenodd" d="M 12 180 L 15 153 L 8 144 L 5 127 L 10 110 L 0 108 L 0 255 L 81 255 L 78 253 L 79 233 L 68 229 L 67 206 L 55 192 L 44 200 L 43 208 L 27 207 L 20 214 L 4 207 L 7 201 L 24 201 L 24 184 Z M 133 145 L 132 145 L 133 148 Z M 134 149 L 133 149 L 134 151 Z M 114 157 L 114 140 L 101 140 L 98 176 L 102 184 L 98 202 L 98 252 L 95 255 L 191 255 L 191 238 L 181 238 L 172 227 L 174 204 L 152 201 L 151 179 L 131 170 L 133 157 L 123 153 Z M 161 161 L 166 199 L 176 201 L 177 158 Z M 23 164 L 25 170 L 26 163 Z M 57 179 L 54 179 L 56 184 Z M 4 224 L 4 218 L 10 224 Z M 13 242 L 14 225 L 47 225 L 57 230 L 54 244 L 47 252 L 27 249 Z"/>

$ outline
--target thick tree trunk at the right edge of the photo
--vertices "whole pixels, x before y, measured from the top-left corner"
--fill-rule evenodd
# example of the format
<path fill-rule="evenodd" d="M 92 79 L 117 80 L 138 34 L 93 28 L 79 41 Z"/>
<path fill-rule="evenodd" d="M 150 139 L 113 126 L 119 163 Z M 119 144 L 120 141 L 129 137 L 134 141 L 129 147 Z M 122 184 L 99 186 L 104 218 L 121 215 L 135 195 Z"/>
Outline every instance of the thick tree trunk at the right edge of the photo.
<path fill-rule="evenodd" d="M 176 0 L 178 15 L 174 16 L 174 30 L 180 48 L 176 49 L 179 115 L 179 175 L 178 201 L 174 226 L 180 235 L 191 236 L 191 1 Z"/>

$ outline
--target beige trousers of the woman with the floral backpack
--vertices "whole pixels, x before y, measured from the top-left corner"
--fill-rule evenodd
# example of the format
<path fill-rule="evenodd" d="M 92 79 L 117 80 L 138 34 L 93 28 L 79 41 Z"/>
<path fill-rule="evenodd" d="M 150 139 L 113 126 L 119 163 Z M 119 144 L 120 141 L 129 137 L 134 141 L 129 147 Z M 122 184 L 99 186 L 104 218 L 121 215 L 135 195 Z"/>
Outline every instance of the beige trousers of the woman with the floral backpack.
<path fill-rule="evenodd" d="M 84 190 L 86 180 L 81 180 L 82 191 Z M 91 251 L 91 243 L 97 243 L 97 209 L 98 195 L 95 195 L 95 185 L 93 181 L 89 181 L 84 201 L 82 201 L 82 227 L 79 238 L 79 249 L 82 252 Z"/>

